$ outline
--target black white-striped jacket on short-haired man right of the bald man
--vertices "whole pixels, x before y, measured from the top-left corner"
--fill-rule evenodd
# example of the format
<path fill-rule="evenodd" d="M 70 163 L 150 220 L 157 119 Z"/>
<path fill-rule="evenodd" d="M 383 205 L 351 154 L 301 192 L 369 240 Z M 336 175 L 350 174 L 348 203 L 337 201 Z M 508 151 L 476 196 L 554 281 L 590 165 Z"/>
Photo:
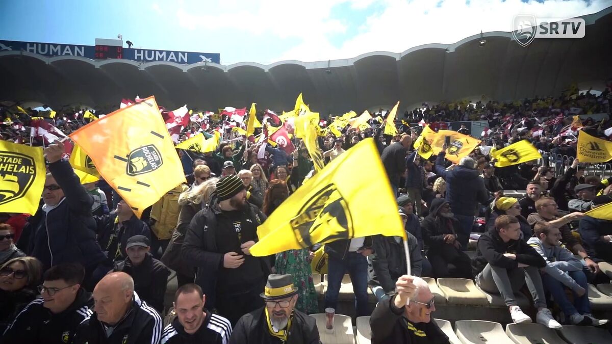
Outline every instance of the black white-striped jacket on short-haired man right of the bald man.
<path fill-rule="evenodd" d="M 194 334 L 185 332 L 184 327 L 179 323 L 179 318 L 174 318 L 172 323 L 163 329 L 160 344 L 227 344 L 230 342 L 230 321 L 206 309 L 204 312 L 206 312 L 206 317 Z"/>

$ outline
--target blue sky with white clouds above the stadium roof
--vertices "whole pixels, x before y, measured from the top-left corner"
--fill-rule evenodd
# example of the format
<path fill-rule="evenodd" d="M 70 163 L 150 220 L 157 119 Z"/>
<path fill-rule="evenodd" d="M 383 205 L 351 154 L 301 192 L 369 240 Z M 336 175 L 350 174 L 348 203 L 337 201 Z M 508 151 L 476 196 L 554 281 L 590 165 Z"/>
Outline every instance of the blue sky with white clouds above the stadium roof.
<path fill-rule="evenodd" d="M 324 61 L 510 31 L 521 13 L 569 18 L 612 0 L 0 0 L 0 39 L 220 53 L 222 64 Z"/>

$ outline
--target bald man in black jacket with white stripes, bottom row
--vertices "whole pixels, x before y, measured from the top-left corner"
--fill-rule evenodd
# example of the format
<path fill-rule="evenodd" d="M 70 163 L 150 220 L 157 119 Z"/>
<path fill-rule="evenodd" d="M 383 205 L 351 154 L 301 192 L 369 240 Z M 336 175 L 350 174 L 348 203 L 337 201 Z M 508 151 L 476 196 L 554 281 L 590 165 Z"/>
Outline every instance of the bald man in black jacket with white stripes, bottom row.
<path fill-rule="evenodd" d="M 76 329 L 73 344 L 157 344 L 162 318 L 141 301 L 125 272 L 106 275 L 94 288 L 94 314 Z"/>

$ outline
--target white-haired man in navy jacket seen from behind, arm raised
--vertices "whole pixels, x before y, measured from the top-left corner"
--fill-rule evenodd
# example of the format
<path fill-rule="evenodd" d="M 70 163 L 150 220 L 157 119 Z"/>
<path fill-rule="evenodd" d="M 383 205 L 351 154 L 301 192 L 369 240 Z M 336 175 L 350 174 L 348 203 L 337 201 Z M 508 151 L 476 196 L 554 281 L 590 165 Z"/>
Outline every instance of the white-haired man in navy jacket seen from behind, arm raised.
<path fill-rule="evenodd" d="M 436 172 L 446 180 L 446 200 L 449 201 L 455 219 L 459 221 L 457 240 L 461 249 L 468 248 L 469 233 L 474 226 L 478 204 L 488 204 L 487 188 L 480 173 L 475 170 L 476 162 L 471 157 L 463 157 L 459 165 L 452 170 L 446 170 L 444 157 L 446 157 L 446 144 L 436 158 Z"/>

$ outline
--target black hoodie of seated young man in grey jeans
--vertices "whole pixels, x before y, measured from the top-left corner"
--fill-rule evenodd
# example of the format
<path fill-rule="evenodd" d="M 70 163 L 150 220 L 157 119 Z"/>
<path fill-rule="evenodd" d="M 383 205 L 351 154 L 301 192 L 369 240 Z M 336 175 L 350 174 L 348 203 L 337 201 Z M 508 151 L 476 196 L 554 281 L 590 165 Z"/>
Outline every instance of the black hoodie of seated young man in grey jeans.
<path fill-rule="evenodd" d="M 514 253 L 517 255 L 517 259 L 510 259 L 504 256 L 504 253 Z M 506 269 L 515 269 L 518 267 L 518 263 L 537 268 L 546 266 L 544 258 L 533 247 L 529 246 L 526 241 L 518 239 L 504 242 L 495 228 L 483 233 L 480 239 L 478 239 L 476 257 L 472 260 L 472 274 L 474 274 L 474 277 L 485 269 L 487 263 Z"/>

